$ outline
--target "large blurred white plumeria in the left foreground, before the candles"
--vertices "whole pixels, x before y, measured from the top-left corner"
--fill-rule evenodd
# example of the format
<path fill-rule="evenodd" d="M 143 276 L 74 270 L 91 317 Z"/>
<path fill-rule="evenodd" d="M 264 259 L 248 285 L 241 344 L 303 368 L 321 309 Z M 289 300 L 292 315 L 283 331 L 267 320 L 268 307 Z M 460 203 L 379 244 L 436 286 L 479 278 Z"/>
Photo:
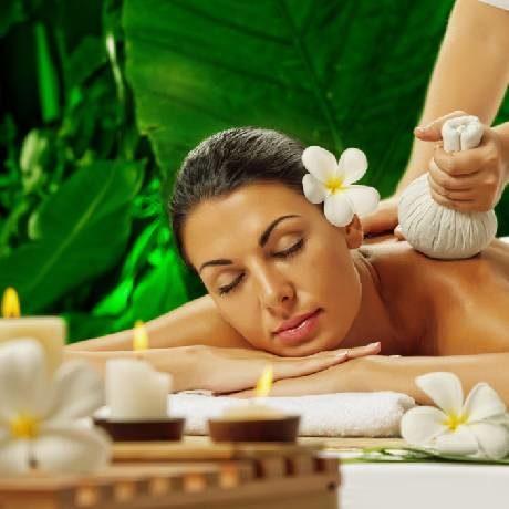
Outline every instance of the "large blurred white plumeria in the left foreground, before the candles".
<path fill-rule="evenodd" d="M 0 345 L 0 472 L 92 471 L 110 460 L 110 439 L 90 426 L 103 384 L 85 362 L 61 365 L 53 378 L 40 343 Z"/>

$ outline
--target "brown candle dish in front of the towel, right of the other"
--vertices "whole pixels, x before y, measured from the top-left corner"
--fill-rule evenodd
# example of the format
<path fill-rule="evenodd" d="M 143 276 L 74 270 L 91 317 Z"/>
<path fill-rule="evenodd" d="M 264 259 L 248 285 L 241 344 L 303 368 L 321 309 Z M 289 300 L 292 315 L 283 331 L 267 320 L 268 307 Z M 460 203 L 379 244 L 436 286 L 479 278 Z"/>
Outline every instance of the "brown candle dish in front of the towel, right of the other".
<path fill-rule="evenodd" d="M 295 442 L 300 416 L 289 415 L 273 419 L 209 419 L 214 442 Z"/>

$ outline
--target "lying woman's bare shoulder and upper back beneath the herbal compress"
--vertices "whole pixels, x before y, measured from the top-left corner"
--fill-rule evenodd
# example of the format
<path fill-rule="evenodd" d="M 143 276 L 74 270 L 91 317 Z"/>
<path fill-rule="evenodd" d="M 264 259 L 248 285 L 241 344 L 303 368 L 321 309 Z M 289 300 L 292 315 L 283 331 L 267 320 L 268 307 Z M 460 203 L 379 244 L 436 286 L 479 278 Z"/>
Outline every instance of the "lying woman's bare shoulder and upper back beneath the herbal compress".
<path fill-rule="evenodd" d="M 419 354 L 509 351 L 509 245 L 495 240 L 466 260 L 433 260 L 407 242 L 363 247 L 362 253 L 387 300 L 419 324 Z"/>

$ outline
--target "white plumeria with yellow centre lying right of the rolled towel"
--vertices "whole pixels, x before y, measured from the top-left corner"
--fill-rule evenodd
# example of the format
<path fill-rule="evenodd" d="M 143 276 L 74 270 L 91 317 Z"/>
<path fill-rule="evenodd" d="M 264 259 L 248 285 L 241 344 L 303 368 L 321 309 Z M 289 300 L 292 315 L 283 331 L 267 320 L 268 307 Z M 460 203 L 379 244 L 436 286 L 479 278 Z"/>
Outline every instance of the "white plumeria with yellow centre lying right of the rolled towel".
<path fill-rule="evenodd" d="M 490 385 L 478 383 L 464 402 L 454 373 L 428 373 L 415 383 L 438 408 L 417 406 L 403 416 L 401 432 L 408 444 L 487 459 L 501 459 L 509 453 L 509 416 Z"/>

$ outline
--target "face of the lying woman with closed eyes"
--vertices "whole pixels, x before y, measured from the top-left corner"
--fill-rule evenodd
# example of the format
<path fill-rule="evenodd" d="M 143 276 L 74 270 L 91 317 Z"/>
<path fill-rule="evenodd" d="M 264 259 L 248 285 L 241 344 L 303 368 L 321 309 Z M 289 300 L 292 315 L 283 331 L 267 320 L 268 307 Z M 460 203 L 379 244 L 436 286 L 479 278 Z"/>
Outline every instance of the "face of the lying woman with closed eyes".
<path fill-rule="evenodd" d="M 199 204 L 183 241 L 222 319 L 258 349 L 287 356 L 337 347 L 359 311 L 345 228 L 281 184 Z"/>

